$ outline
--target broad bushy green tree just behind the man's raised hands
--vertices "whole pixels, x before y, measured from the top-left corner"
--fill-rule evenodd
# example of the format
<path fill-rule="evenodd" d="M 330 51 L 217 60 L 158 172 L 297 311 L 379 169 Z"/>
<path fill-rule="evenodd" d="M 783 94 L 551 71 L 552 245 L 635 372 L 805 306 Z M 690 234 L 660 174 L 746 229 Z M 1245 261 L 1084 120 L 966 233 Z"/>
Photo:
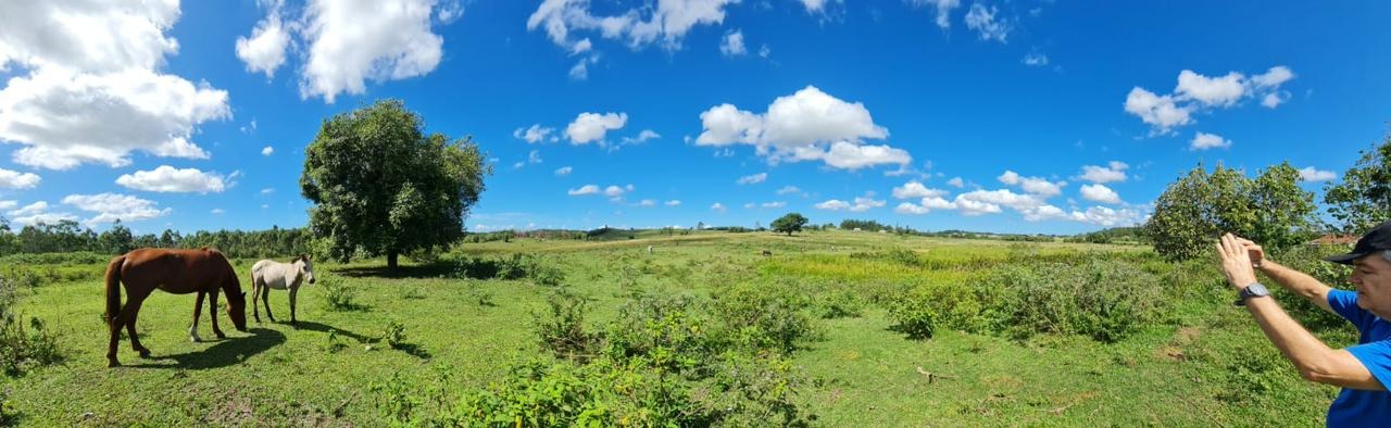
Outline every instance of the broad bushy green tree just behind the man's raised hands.
<path fill-rule="evenodd" d="M 1299 171 L 1283 163 L 1255 179 L 1219 164 L 1198 165 L 1164 189 L 1145 224 L 1155 252 L 1170 260 L 1193 258 L 1231 232 L 1280 250 L 1316 235 L 1313 193 L 1299 188 Z"/>

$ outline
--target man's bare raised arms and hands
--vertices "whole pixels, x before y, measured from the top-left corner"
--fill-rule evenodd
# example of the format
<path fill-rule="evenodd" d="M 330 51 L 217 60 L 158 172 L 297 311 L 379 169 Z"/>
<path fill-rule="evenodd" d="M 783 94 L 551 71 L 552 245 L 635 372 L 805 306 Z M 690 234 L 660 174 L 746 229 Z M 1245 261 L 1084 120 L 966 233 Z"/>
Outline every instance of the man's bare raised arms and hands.
<path fill-rule="evenodd" d="M 1221 270 L 1227 277 L 1227 283 L 1231 283 L 1238 290 L 1256 282 L 1256 272 L 1251 265 L 1252 257 L 1248 257 L 1248 246 L 1231 233 L 1224 235 L 1221 242 L 1217 243 L 1217 256 L 1221 258 Z M 1283 271 L 1292 272 L 1288 268 Z M 1327 297 L 1327 286 L 1323 286 L 1320 290 L 1319 288 L 1309 286 L 1310 282 L 1321 285 L 1313 278 L 1309 278 L 1309 281 L 1294 281 L 1294 285 L 1302 285 L 1302 290 L 1317 292 Z M 1281 285 L 1285 283 L 1281 281 Z M 1301 289 L 1291 288 L 1291 290 L 1306 296 Z M 1321 307 L 1328 307 L 1327 300 L 1324 300 Z M 1309 334 L 1303 325 L 1291 318 L 1285 310 L 1280 308 L 1276 299 L 1248 299 L 1246 310 L 1256 318 L 1256 324 L 1260 325 L 1260 331 L 1266 334 L 1266 338 L 1280 349 L 1280 353 L 1285 359 L 1289 359 L 1295 364 L 1299 375 L 1305 379 L 1352 389 L 1385 390 L 1381 381 L 1377 381 L 1372 375 L 1372 371 L 1353 357 L 1352 353 L 1324 345 L 1319 338 Z"/>

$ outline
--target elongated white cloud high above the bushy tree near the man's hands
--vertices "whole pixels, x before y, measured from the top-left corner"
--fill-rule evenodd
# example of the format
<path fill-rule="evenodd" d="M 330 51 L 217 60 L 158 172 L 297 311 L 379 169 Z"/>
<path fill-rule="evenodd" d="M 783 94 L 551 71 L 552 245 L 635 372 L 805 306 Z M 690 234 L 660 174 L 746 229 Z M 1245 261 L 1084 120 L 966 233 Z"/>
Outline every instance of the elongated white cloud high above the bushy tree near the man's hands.
<path fill-rule="evenodd" d="M 1192 124 L 1192 114 L 1238 106 L 1246 97 L 1260 97 L 1260 104 L 1274 108 L 1288 99 L 1280 86 L 1294 79 L 1288 67 L 1276 65 L 1249 79 L 1241 72 L 1205 76 L 1191 69 L 1178 72 L 1178 85 L 1171 94 L 1156 94 L 1135 86 L 1125 96 L 1125 113 L 1134 114 L 1153 126 L 1155 133 L 1171 133 L 1174 128 Z"/>

